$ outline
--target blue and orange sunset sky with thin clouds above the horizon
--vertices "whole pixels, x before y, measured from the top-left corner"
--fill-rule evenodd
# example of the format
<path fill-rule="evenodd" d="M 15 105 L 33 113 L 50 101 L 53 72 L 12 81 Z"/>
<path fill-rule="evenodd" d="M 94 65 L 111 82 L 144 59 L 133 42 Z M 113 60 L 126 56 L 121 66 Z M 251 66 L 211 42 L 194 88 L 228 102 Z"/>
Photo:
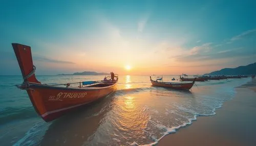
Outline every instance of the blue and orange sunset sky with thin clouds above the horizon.
<path fill-rule="evenodd" d="M 1 1 L 0 75 L 206 74 L 256 62 L 256 1 Z M 127 70 L 126 66 L 131 69 Z"/>

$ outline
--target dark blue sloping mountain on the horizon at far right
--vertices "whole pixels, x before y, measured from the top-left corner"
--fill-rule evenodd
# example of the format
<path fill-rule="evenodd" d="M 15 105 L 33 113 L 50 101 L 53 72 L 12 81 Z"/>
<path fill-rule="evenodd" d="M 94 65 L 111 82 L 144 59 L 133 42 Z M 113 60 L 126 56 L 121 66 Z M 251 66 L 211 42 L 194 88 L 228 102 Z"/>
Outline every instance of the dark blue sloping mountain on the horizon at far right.
<path fill-rule="evenodd" d="M 237 68 L 223 68 L 218 71 L 210 72 L 204 75 L 255 75 L 256 74 L 256 62 L 246 65 L 239 66 Z"/>

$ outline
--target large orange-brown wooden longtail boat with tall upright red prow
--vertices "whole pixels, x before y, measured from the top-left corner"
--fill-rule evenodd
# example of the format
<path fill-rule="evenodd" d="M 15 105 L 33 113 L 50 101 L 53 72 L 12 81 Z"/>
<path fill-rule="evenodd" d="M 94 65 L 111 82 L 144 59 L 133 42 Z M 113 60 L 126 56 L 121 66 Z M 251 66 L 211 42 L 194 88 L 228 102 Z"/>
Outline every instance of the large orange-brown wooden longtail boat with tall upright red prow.
<path fill-rule="evenodd" d="M 34 74 L 36 68 L 33 65 L 30 46 L 18 43 L 12 43 L 12 46 L 24 79 L 23 84 L 18 87 L 27 90 L 36 112 L 47 122 L 116 90 L 118 77 L 112 82 L 93 82 L 83 87 L 81 82 L 78 87 L 69 87 L 70 83 L 62 84 L 67 87 L 41 84 Z"/>

